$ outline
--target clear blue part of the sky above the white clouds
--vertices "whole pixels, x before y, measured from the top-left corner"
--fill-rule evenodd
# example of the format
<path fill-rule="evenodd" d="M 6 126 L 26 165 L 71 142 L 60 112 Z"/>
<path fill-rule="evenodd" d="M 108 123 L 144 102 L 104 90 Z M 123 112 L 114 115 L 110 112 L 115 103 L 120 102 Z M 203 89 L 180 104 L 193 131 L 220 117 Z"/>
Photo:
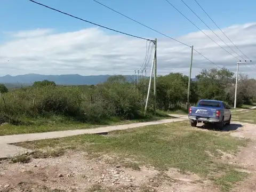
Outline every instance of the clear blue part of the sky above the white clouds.
<path fill-rule="evenodd" d="M 99 1 L 172 37 L 197 31 L 191 23 L 163 0 Z M 145 37 L 161 36 L 129 19 L 123 18 L 121 15 L 106 9 L 92 0 L 38 0 L 38 2 L 110 28 L 126 31 L 127 33 Z M 180 0 L 171 0 L 170 2 L 172 2 L 180 11 L 185 13 L 188 18 L 195 21 L 199 28 L 206 29 L 204 24 L 199 21 Z M 191 6 L 191 9 L 193 9 L 199 17 L 205 18 L 206 21 L 209 20 L 194 1 L 185 0 L 185 2 Z M 234 24 L 253 22 L 255 21 L 254 18 L 256 18 L 256 2 L 253 0 L 198 0 L 198 2 L 221 28 Z M 47 10 L 28 0 L 2 1 L 0 23 L 1 31 L 54 28 L 59 32 L 63 32 L 92 27 L 91 24 Z M 213 24 L 210 26 L 212 29 L 216 28 Z M 114 32 L 109 31 L 108 33 Z"/>

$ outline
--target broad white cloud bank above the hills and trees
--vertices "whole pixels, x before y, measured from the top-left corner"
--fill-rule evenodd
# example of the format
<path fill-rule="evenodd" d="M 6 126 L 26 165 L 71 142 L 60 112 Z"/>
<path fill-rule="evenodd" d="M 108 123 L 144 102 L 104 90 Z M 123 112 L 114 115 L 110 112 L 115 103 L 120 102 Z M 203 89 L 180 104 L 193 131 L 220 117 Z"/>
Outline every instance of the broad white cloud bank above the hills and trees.
<path fill-rule="evenodd" d="M 251 60 L 255 60 L 256 23 L 222 29 Z M 100 28 L 52 34 L 52 29 L 36 29 L 12 33 L 15 37 L 0 45 L 0 75 L 38 74 L 133 74 L 145 59 L 146 41 L 120 34 L 109 35 Z M 204 30 L 215 42 L 236 55 L 211 31 Z M 230 47 L 242 55 L 221 33 Z M 18 37 L 18 38 L 17 38 Z M 231 71 L 236 71 L 236 59 L 213 43 L 202 32 L 190 33 L 177 39 L 201 52 L 205 57 Z M 236 55 L 237 57 L 237 55 Z M 188 74 L 190 48 L 169 38 L 158 38 L 158 74 L 179 72 Z M 256 62 L 255 62 L 256 63 Z M 151 65 L 151 59 L 149 61 Z M 201 68 L 216 67 L 194 52 L 193 76 Z M 240 71 L 255 77 L 255 65 L 241 66 Z M 149 74 L 150 67 L 148 67 Z"/>

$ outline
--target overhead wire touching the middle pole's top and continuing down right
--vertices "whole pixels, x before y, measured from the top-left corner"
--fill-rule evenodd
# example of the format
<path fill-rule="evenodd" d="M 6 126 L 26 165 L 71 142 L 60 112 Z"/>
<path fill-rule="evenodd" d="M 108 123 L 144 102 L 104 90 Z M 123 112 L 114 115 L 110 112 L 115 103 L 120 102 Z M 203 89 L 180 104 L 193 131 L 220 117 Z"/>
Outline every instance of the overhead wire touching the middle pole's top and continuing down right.
<path fill-rule="evenodd" d="M 139 22 L 139 21 L 137 21 L 137 20 L 134 20 L 134 19 L 128 17 L 127 15 L 125 15 L 125 14 L 123 14 L 123 13 L 121 13 L 121 12 L 116 11 L 116 10 L 112 9 L 111 7 L 109 7 L 109 6 L 107 6 L 107 5 L 103 4 L 103 3 L 100 3 L 100 2 L 98 2 L 98 1 L 96 1 L 96 0 L 92 0 L 92 1 L 98 3 L 98 4 L 102 5 L 102 6 L 105 6 L 107 9 L 109 9 L 109 10 L 111 10 L 111 11 L 114 11 L 114 12 L 116 12 L 116 13 L 122 15 L 123 17 L 127 18 L 127 19 L 130 19 L 130 20 L 132 20 L 132 21 L 134 21 L 134 22 L 137 22 L 138 24 L 140 24 L 140 25 L 142 25 L 142 26 L 144 26 L 144 27 L 146 27 L 146 28 L 148 28 L 148 29 L 150 29 L 150 30 L 155 31 L 155 32 L 158 33 L 158 34 L 161 34 L 161 35 L 163 35 L 163 36 L 165 36 L 165 37 L 167 37 L 167 38 L 170 38 L 170 39 L 172 39 L 172 40 L 175 41 L 175 42 L 178 42 L 178 43 L 181 43 L 181 44 L 183 44 L 183 45 L 185 45 L 185 46 L 191 47 L 190 45 L 188 45 L 188 44 L 186 44 L 186 43 L 182 43 L 182 42 L 178 41 L 177 39 L 174 39 L 174 38 L 172 38 L 172 37 L 170 37 L 170 36 L 168 36 L 168 35 L 165 35 L 165 34 L 161 33 L 160 31 L 157 31 L 157 30 L 155 30 L 155 29 L 153 29 L 153 28 L 151 28 L 151 27 L 149 27 L 149 26 L 146 26 L 146 25 L 144 25 L 143 23 L 141 23 L 141 22 Z M 198 52 L 198 51 L 195 50 L 195 49 L 194 49 L 194 51 L 196 51 L 198 54 L 202 55 L 202 57 L 204 57 L 206 60 L 208 60 L 208 61 L 210 61 L 211 63 L 213 63 L 213 65 L 215 65 L 215 66 L 221 68 L 220 66 L 218 66 L 217 64 L 215 64 L 214 62 L 212 62 L 211 60 L 209 60 L 208 58 L 206 58 L 202 53 Z"/>

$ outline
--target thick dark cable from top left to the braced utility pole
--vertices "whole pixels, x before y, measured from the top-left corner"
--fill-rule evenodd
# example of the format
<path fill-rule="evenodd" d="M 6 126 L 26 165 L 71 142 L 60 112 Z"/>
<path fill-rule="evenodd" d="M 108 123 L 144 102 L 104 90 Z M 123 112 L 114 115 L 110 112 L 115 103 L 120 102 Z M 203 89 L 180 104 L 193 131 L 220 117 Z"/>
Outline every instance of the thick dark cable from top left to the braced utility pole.
<path fill-rule="evenodd" d="M 93 22 L 91 22 L 91 21 L 87 21 L 87 20 L 78 18 L 78 17 L 76 17 L 76 16 L 74 16 L 74 15 L 71 15 L 71 14 L 69 14 L 69 13 L 65 13 L 65 12 L 63 12 L 63 11 L 54 9 L 54 8 L 52 8 L 52 7 L 50 7 L 50 6 L 44 5 L 44 4 L 42 4 L 42 3 L 38 3 L 38 2 L 33 1 L 33 0 L 28 0 L 28 1 L 33 2 L 33 3 L 35 3 L 35 4 L 38 4 L 38 5 L 41 5 L 41 6 L 44 6 L 44 7 L 48 8 L 48 9 L 53 10 L 53 11 L 57 11 L 57 12 L 59 12 L 59 13 L 68 15 L 69 17 L 73 17 L 73 18 L 75 18 L 75 19 L 79 19 L 79 20 L 81 20 L 81 21 L 84 21 L 84 22 L 87 22 L 87 23 L 91 23 L 92 25 L 95 25 L 95 26 L 98 26 L 98 27 L 102 27 L 102 28 L 105 28 L 105 29 L 108 29 L 108 30 L 111 30 L 111 31 L 115 31 L 115 32 L 120 33 L 120 34 L 124 34 L 124 35 L 127 35 L 127 36 L 139 38 L 139 39 L 144 39 L 144 40 L 147 40 L 147 41 L 154 41 L 154 40 L 147 39 L 147 38 L 143 38 L 143 37 L 139 37 L 139 36 L 136 36 L 136 35 L 127 34 L 127 33 L 124 33 L 124 32 L 122 32 L 122 31 L 118 31 L 118 30 L 115 30 L 115 29 L 111 29 L 111 28 L 108 28 L 108 27 L 99 25 L 99 24 L 97 24 L 97 23 L 93 23 Z"/>

